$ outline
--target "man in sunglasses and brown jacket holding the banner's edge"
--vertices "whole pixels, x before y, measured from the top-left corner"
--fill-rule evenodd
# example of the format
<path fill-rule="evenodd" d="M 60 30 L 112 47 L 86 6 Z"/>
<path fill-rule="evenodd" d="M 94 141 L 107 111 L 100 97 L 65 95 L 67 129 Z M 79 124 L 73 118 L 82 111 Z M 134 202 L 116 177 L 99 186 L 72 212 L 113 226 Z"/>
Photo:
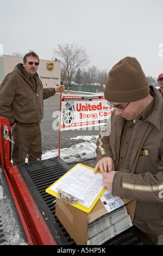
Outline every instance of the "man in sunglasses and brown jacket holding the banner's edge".
<path fill-rule="evenodd" d="M 23 64 L 5 76 L 0 86 L 0 116 L 9 120 L 15 144 L 12 151 L 13 165 L 41 159 L 42 142 L 40 123 L 43 118 L 43 100 L 60 92 L 60 88 L 43 88 L 37 75 L 39 56 L 27 53 Z M 22 148 L 22 149 L 21 149 Z"/>

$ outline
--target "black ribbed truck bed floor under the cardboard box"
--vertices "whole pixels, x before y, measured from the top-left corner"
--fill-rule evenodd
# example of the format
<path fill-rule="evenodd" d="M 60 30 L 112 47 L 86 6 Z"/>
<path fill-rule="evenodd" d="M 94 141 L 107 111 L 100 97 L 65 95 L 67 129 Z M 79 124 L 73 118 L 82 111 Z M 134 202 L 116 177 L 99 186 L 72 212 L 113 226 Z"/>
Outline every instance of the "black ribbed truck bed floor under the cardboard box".
<path fill-rule="evenodd" d="M 22 178 L 32 194 L 57 245 L 76 245 L 55 216 L 55 197 L 46 193 L 47 187 L 64 175 L 70 166 L 60 157 L 17 166 Z M 105 245 L 152 245 L 153 243 L 136 227 L 131 227 L 113 237 Z"/>

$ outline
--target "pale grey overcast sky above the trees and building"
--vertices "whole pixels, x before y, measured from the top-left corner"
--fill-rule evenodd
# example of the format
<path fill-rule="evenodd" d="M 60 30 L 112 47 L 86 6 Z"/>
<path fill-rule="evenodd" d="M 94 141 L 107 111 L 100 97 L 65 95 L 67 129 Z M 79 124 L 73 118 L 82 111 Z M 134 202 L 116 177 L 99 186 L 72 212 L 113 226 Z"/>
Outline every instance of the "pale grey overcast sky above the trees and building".
<path fill-rule="evenodd" d="M 163 72 L 162 0 L 0 0 L 0 10 L 3 54 L 52 60 L 59 44 L 75 42 L 100 70 L 131 56 L 146 76 Z"/>

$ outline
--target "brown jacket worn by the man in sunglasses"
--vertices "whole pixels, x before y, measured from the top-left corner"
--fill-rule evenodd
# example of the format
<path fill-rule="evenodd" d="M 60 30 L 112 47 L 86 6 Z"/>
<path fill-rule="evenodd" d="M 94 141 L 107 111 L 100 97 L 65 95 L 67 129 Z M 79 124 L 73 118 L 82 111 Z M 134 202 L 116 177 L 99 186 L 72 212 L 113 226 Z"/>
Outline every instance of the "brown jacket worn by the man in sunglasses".
<path fill-rule="evenodd" d="M 40 124 L 43 118 L 43 100 L 55 94 L 54 88 L 43 88 L 37 75 L 34 76 L 35 88 L 24 75 L 23 64 L 5 76 L 0 86 L 0 116 L 9 120 L 10 125 Z"/>

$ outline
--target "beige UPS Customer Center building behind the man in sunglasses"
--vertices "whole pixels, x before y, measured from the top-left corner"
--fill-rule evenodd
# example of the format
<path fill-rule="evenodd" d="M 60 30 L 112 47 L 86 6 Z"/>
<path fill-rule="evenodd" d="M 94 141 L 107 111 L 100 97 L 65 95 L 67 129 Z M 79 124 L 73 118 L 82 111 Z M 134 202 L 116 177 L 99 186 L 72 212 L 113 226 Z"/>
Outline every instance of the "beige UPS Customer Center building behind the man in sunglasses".
<path fill-rule="evenodd" d="M 23 63 L 23 57 L 3 55 L 1 56 L 0 84 L 4 77 L 10 73 L 18 63 Z M 60 84 L 61 63 L 59 60 L 40 59 L 37 74 L 40 76 L 43 87 L 56 87 Z"/>

